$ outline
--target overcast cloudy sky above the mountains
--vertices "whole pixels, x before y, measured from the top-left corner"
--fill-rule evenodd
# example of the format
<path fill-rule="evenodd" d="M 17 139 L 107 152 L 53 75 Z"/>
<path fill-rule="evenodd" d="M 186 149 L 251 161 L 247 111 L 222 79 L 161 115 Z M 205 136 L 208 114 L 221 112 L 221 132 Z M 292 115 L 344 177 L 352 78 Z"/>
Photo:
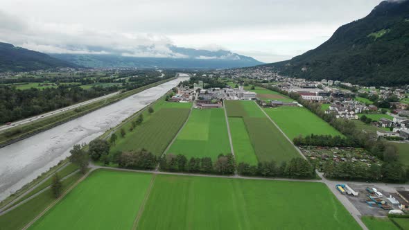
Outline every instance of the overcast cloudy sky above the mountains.
<path fill-rule="evenodd" d="M 173 44 L 276 62 L 315 48 L 380 2 L 1 0 L 0 41 L 46 53 L 120 50 L 142 57 L 166 57 Z"/>

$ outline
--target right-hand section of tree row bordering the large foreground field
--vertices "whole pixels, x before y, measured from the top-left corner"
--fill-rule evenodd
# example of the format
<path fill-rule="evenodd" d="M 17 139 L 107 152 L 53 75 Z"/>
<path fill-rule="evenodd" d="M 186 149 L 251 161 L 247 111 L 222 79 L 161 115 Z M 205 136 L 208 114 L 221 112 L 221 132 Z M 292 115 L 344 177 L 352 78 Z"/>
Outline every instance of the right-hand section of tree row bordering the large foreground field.
<path fill-rule="evenodd" d="M 275 161 L 261 162 L 257 166 L 249 163 L 239 163 L 237 167 L 239 175 L 258 177 L 289 177 L 311 179 L 315 177 L 315 167 L 302 158 L 293 158 L 288 162 L 278 165 Z"/>

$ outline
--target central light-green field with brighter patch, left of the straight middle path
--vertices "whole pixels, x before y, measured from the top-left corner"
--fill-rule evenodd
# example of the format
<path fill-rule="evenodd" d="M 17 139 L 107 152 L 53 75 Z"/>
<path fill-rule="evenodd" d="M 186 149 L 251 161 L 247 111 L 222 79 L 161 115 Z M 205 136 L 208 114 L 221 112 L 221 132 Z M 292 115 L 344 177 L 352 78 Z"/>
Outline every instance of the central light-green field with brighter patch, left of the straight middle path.
<path fill-rule="evenodd" d="M 185 157 L 211 157 L 231 153 L 225 111 L 219 109 L 193 109 L 189 120 L 177 135 L 167 153 Z"/>

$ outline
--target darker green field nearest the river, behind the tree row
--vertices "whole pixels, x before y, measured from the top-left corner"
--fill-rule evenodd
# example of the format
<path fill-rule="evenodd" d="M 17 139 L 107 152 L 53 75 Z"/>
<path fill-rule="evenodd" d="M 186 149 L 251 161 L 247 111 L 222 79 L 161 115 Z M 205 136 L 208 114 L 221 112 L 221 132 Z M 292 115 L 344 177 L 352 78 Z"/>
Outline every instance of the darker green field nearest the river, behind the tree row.
<path fill-rule="evenodd" d="M 145 113 L 145 121 L 132 132 L 129 131 L 130 124 L 128 124 L 124 127 L 127 132 L 125 137 L 121 137 L 120 132 L 116 134 L 118 139 L 110 152 L 145 148 L 159 157 L 186 121 L 191 105 L 191 103 L 159 102 L 159 105 L 155 106 L 155 112 Z"/>

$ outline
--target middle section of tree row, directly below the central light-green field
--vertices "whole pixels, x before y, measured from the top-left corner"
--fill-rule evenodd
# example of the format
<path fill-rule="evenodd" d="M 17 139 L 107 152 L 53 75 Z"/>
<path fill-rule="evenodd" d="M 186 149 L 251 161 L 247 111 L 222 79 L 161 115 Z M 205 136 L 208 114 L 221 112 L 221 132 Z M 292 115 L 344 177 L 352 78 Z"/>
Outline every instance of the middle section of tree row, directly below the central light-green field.
<path fill-rule="evenodd" d="M 171 172 L 202 172 L 232 175 L 236 170 L 236 163 L 232 154 L 220 154 L 215 163 L 210 157 L 191 157 L 188 159 L 182 154 L 166 154 L 160 164 L 162 170 Z"/>

